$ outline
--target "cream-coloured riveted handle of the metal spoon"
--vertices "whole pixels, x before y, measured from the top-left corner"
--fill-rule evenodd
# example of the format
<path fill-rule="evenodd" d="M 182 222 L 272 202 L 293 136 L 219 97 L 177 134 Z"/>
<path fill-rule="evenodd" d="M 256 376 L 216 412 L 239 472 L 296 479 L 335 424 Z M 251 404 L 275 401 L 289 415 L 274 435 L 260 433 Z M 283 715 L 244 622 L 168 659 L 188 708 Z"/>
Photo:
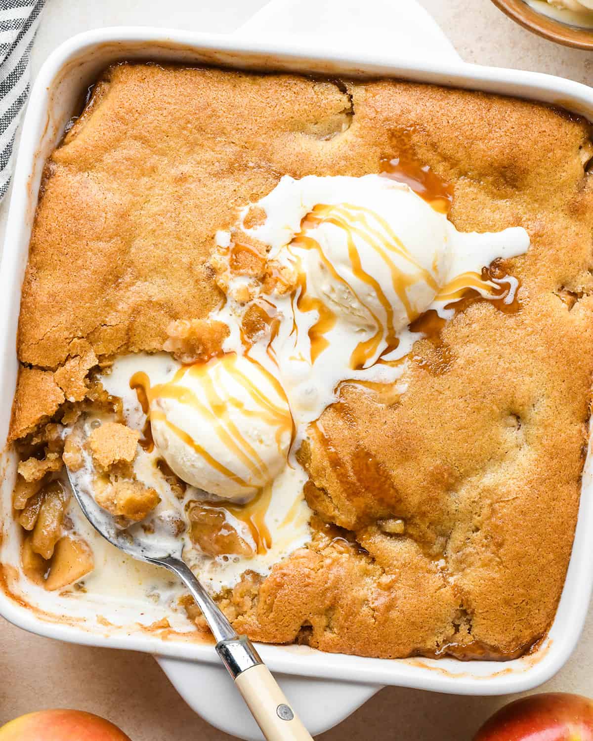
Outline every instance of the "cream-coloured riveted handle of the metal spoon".
<path fill-rule="evenodd" d="M 235 684 L 268 741 L 313 741 L 265 664 L 245 669 Z"/>

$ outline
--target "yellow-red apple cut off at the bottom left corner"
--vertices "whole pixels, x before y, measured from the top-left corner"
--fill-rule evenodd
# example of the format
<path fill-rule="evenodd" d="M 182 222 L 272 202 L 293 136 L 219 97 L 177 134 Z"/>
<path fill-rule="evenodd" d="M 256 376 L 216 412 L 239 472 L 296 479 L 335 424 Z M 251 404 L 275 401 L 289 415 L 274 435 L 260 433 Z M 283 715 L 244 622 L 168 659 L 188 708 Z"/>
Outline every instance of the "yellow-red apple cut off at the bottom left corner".
<path fill-rule="evenodd" d="M 0 728 L 0 741 L 131 741 L 105 718 L 82 710 L 40 710 Z"/>

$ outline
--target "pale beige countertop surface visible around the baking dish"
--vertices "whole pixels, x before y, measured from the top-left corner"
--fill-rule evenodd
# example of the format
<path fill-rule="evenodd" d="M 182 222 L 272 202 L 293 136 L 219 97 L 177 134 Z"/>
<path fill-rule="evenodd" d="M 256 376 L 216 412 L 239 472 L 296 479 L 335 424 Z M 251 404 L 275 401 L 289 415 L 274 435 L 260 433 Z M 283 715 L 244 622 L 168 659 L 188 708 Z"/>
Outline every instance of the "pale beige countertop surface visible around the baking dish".
<path fill-rule="evenodd" d="M 593 84 L 593 53 L 532 36 L 490 0 L 420 2 L 469 62 L 539 70 Z M 263 0 L 47 0 L 33 51 L 33 75 L 53 48 L 79 31 L 150 24 L 225 32 L 263 4 Z M 0 207 L 0 234 L 7 200 Z M 42 708 L 70 707 L 108 717 L 133 741 L 230 738 L 196 716 L 145 654 L 60 643 L 1 621 L 0 677 L 0 722 Z M 572 659 L 543 689 L 593 695 L 593 608 Z M 469 741 L 480 722 L 505 701 L 385 688 L 319 739 Z"/>

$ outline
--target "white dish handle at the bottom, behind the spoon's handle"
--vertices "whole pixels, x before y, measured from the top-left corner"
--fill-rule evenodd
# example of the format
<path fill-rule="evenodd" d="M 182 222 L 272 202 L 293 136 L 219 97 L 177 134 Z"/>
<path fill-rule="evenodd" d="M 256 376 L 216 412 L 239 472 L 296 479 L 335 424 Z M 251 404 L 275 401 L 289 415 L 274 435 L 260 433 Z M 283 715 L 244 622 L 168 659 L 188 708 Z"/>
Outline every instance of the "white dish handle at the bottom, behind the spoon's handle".
<path fill-rule="evenodd" d="M 204 720 L 239 739 L 262 740 L 262 732 L 247 707 L 238 700 L 233 680 L 222 665 L 170 657 L 156 657 L 156 660 L 173 687 Z M 274 677 L 311 736 L 333 728 L 380 690 L 377 685 L 337 679 L 276 673 Z"/>

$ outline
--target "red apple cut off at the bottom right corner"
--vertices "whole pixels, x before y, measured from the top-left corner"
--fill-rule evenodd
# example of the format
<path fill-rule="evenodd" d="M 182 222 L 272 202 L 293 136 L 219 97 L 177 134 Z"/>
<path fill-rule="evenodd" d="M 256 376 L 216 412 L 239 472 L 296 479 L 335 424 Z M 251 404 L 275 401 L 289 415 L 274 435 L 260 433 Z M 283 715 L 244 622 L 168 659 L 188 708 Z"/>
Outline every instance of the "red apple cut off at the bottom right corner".
<path fill-rule="evenodd" d="M 593 741 L 593 700 L 567 692 L 522 697 L 494 713 L 474 741 Z"/>

